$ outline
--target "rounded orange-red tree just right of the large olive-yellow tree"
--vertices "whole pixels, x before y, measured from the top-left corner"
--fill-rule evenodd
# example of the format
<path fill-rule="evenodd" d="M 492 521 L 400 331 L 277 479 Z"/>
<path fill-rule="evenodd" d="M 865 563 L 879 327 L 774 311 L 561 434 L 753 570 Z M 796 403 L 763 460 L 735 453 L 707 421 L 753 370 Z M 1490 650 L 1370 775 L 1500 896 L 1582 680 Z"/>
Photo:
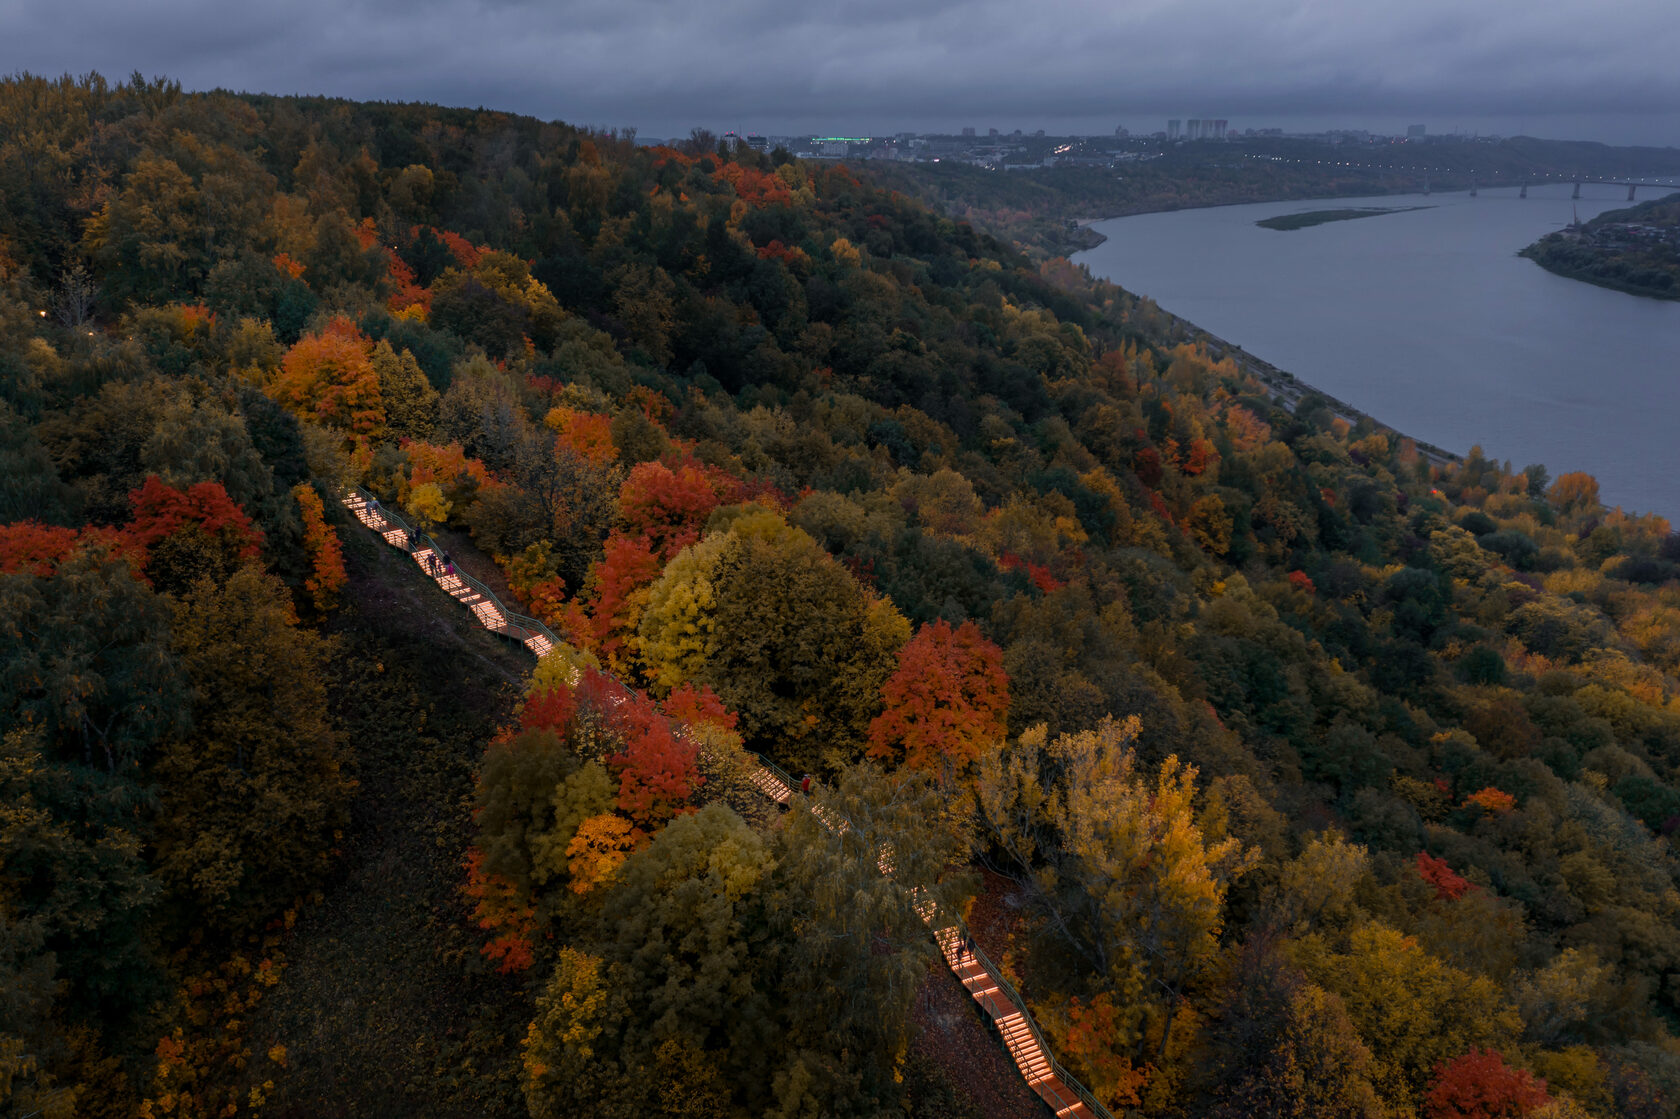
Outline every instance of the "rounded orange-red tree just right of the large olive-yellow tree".
<path fill-rule="evenodd" d="M 869 724 L 869 754 L 951 776 L 1003 738 L 1010 711 L 1003 652 L 973 622 L 956 628 L 931 622 L 899 650 L 880 699 L 885 711 Z"/>

